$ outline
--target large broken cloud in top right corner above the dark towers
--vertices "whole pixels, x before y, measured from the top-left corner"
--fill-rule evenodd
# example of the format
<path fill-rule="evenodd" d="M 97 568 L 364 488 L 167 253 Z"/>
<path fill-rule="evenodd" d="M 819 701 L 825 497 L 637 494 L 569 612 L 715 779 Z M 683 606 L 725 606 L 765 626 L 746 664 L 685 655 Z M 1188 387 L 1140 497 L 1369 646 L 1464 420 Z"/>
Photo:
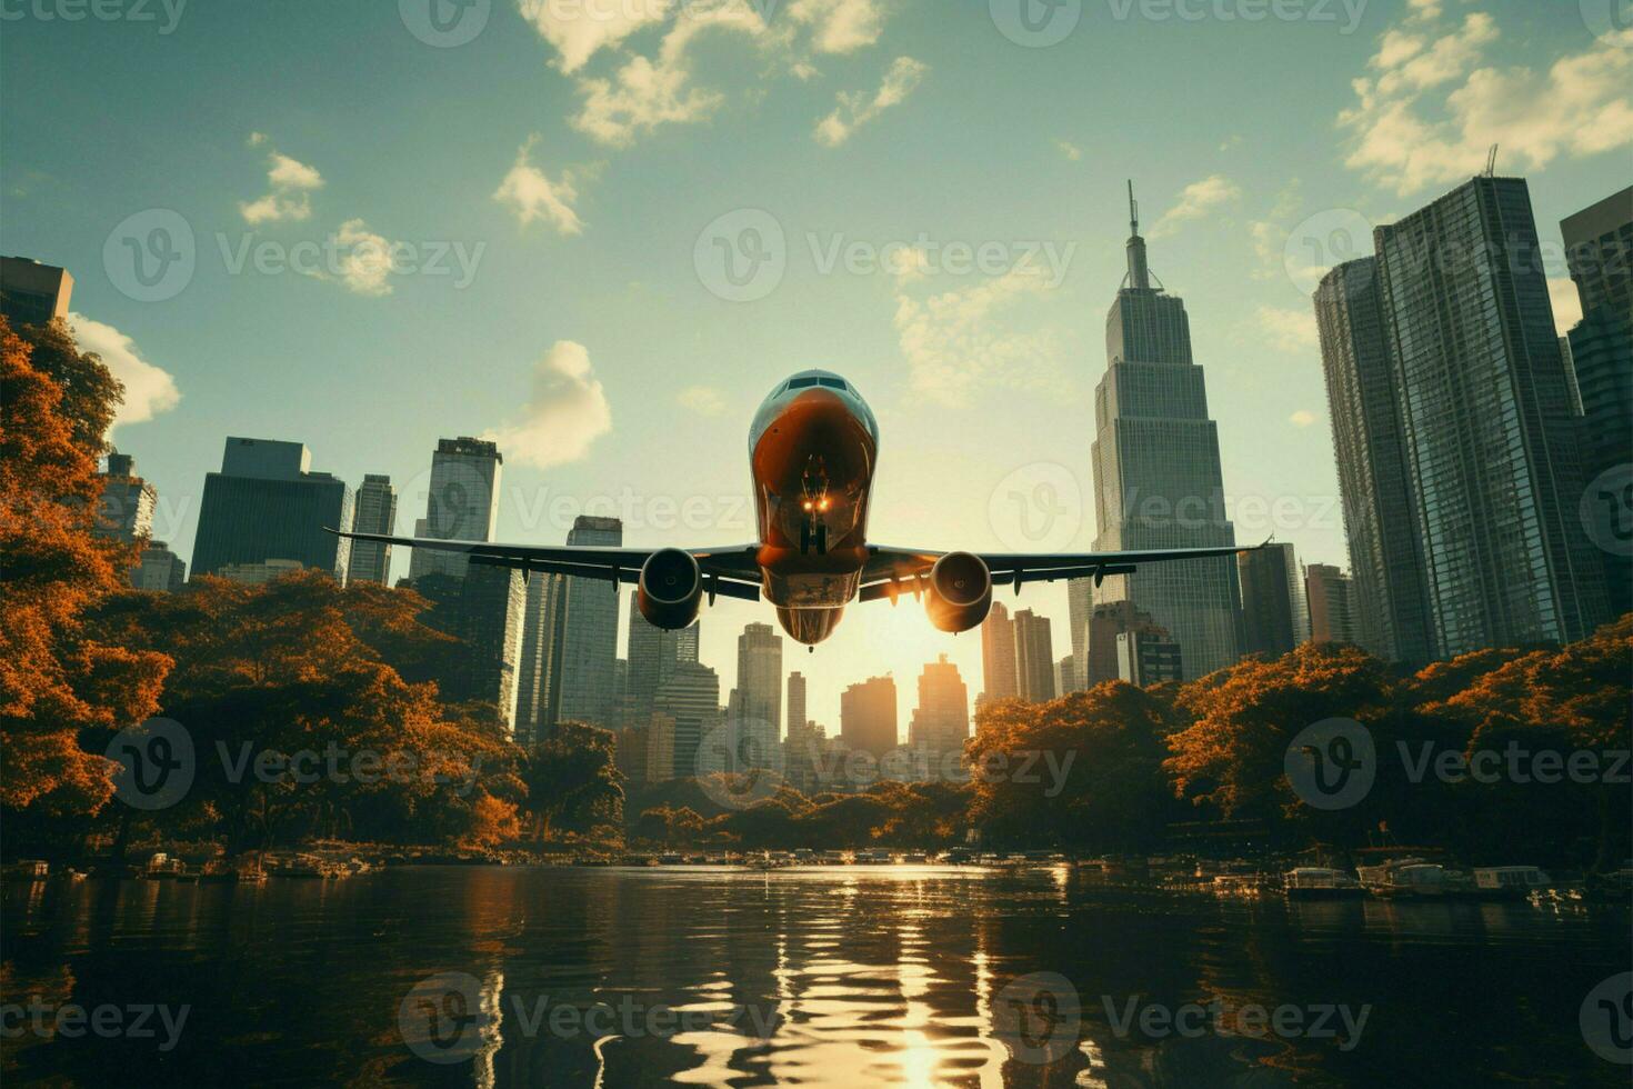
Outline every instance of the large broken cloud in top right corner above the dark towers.
<path fill-rule="evenodd" d="M 1414 5 L 1413 23 L 1439 11 Z M 1429 29 L 1429 28 L 1426 28 Z M 1339 114 L 1354 144 L 1346 165 L 1408 196 L 1478 173 L 1493 144 L 1506 173 L 1542 170 L 1633 142 L 1633 28 L 1604 34 L 1553 60 L 1545 73 L 1483 65 L 1497 39 L 1475 11 L 1432 38 L 1390 29 L 1368 62 L 1378 75 L 1352 82 L 1355 104 Z M 1442 101 L 1432 91 L 1448 87 Z"/>

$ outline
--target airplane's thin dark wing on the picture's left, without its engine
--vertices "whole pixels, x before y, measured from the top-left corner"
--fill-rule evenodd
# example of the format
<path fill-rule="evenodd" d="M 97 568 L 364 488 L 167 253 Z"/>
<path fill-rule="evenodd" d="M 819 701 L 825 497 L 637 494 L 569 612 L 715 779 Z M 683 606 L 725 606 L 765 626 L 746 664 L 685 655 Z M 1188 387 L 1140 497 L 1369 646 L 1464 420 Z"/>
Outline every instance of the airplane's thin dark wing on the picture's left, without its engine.
<path fill-rule="evenodd" d="M 523 573 L 573 575 L 599 578 L 609 583 L 634 583 L 640 567 L 656 549 L 621 549 L 607 545 L 523 545 L 495 540 L 443 540 L 439 537 L 392 537 L 389 534 L 354 534 L 338 529 L 328 532 L 351 540 L 403 549 L 434 549 L 436 552 L 462 552 L 472 563 L 482 567 L 508 567 Z M 725 549 L 686 549 L 697 560 L 704 575 L 704 593 L 759 601 L 758 545 L 730 545 Z"/>

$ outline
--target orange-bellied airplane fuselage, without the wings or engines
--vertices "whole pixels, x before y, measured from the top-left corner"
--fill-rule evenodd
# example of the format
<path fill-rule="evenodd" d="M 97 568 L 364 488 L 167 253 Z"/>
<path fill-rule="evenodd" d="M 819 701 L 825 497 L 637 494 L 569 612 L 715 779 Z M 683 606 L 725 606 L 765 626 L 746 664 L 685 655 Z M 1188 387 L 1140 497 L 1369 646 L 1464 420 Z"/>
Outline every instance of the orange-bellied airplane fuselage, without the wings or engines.
<path fill-rule="evenodd" d="M 754 413 L 748 449 L 761 593 L 789 635 L 818 643 L 861 586 L 879 424 L 849 382 L 805 371 Z"/>

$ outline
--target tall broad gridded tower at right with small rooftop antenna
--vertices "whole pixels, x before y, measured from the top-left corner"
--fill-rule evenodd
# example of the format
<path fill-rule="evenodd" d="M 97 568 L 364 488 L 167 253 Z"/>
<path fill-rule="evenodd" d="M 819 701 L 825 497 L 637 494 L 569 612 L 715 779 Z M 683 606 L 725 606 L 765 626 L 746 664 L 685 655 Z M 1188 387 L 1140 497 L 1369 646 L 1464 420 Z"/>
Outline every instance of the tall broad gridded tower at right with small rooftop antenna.
<path fill-rule="evenodd" d="M 1435 651 L 1581 638 L 1604 565 L 1525 180 L 1473 178 L 1373 242 Z"/>

